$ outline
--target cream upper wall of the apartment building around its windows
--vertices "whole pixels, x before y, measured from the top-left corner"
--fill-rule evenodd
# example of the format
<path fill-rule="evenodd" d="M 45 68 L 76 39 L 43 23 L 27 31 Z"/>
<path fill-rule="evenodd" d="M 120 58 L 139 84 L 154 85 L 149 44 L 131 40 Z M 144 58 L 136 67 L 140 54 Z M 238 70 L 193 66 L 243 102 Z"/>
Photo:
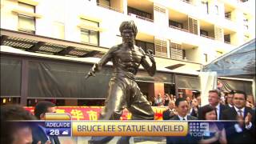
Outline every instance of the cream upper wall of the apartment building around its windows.
<path fill-rule="evenodd" d="M 166 13 L 160 13 L 154 10 L 154 21 L 146 21 L 137 18 L 136 15 L 127 15 L 128 3 L 136 2 L 135 0 L 111 0 L 111 6 L 120 9 L 123 13 L 107 9 L 106 7 L 97 6 L 96 0 L 1 0 L 1 28 L 7 30 L 18 30 L 18 14 L 14 12 L 18 8 L 18 1 L 34 4 L 36 6 L 36 32 L 35 34 L 61 38 L 72 42 L 81 42 L 80 24 L 81 18 L 87 18 L 95 22 L 99 22 L 99 46 L 110 48 L 122 42 L 118 37 L 120 35 L 118 27 L 124 20 L 134 20 L 138 26 L 138 35 L 147 42 L 151 42 L 154 38 L 162 38 L 167 42 L 167 58 L 170 58 L 170 41 L 190 45 L 186 48 L 186 60 L 168 60 L 166 58 L 157 58 L 160 66 L 173 65 L 171 62 L 186 63 L 187 68 L 200 70 L 202 64 L 206 64 L 205 55 L 208 56 L 208 62 L 214 60 L 219 55 L 233 50 L 235 47 L 244 43 L 245 34 L 249 35 L 249 39 L 255 38 L 255 14 L 250 10 L 246 10 L 242 6 L 242 2 L 236 0 L 204 0 L 209 2 L 209 14 L 202 12 L 201 0 L 192 0 L 190 3 L 179 0 L 143 0 L 143 6 L 150 6 L 150 10 L 154 10 L 154 6 L 161 7 Z M 250 0 L 252 2 L 253 0 Z M 137 5 L 138 6 L 138 5 Z M 216 12 L 218 6 L 218 14 Z M 225 6 L 230 6 L 234 10 L 231 12 L 231 20 L 225 18 Z M 150 11 L 149 10 L 149 11 Z M 180 14 L 185 14 L 198 20 L 198 35 L 191 34 L 186 31 L 177 30 L 169 27 L 169 11 L 174 10 Z M 249 15 L 249 30 L 244 30 L 243 17 L 244 14 Z M 203 22 L 210 23 L 212 27 L 218 26 L 223 31 L 230 32 L 230 43 L 224 42 L 224 38 L 214 40 L 200 36 L 200 25 Z M 183 25 L 187 25 L 186 21 L 182 21 Z M 186 26 L 184 26 L 186 27 Z M 60 33 L 60 34 L 58 34 Z M 210 31 L 210 36 L 214 36 L 214 28 Z M 159 60 L 160 59 L 160 60 Z M 189 59 L 189 60 L 188 60 Z M 161 62 L 160 62 L 161 61 Z M 170 62 L 162 64 L 164 62 Z M 195 66 L 195 63 L 198 63 Z"/>

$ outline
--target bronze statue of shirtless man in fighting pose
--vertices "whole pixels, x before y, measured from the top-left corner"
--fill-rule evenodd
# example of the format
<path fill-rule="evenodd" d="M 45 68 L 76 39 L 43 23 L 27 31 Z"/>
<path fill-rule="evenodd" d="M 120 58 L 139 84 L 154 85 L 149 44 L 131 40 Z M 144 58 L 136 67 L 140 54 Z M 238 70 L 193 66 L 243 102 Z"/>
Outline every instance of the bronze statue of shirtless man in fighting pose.
<path fill-rule="evenodd" d="M 126 108 L 132 114 L 134 120 L 153 120 L 154 111 L 150 106 L 137 83 L 135 74 L 138 72 L 140 64 L 146 69 L 150 76 L 156 71 L 156 64 L 150 51 L 146 53 L 142 48 L 135 46 L 135 37 L 138 32 L 133 21 L 122 22 L 119 30 L 122 35 L 122 44 L 113 46 L 94 64 L 89 76 L 95 76 L 95 72 L 102 69 L 107 62 L 113 62 L 114 74 L 110 79 L 106 106 L 100 114 L 100 120 L 119 120 L 122 110 Z M 90 143 L 110 142 L 112 137 L 92 137 Z M 129 137 L 120 138 L 118 143 L 129 143 Z"/>

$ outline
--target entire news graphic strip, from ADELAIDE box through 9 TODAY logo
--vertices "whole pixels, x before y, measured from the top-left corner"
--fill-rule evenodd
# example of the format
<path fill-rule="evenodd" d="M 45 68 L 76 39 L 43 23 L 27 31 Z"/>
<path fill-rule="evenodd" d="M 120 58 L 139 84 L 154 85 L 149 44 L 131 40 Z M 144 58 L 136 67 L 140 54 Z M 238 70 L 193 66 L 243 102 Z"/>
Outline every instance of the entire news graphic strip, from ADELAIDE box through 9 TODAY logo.
<path fill-rule="evenodd" d="M 49 136 L 180 136 L 201 138 L 210 134 L 210 129 L 224 128 L 237 124 L 237 121 L 10 121 L 26 122 L 29 126 L 44 126 Z M 215 130 L 214 128 L 214 130 Z M 221 130 L 221 129 L 220 129 Z"/>

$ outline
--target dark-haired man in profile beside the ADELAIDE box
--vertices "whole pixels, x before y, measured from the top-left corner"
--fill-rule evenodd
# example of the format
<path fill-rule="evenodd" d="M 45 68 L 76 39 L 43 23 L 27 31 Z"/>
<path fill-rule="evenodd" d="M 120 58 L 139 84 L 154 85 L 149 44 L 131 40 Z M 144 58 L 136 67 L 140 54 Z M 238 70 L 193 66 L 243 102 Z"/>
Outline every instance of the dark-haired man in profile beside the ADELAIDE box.
<path fill-rule="evenodd" d="M 46 113 L 55 113 L 55 105 L 52 102 L 38 102 L 34 107 L 34 115 L 45 120 Z M 41 143 L 60 144 L 57 136 L 47 136 L 44 126 L 34 126 L 32 129 L 33 144 Z"/>

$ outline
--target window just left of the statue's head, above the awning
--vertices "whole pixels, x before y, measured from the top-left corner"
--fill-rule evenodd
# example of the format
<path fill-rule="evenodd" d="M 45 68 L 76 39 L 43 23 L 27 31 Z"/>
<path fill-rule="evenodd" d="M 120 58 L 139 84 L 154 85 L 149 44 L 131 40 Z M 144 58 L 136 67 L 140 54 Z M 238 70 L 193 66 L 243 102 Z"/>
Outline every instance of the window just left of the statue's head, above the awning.
<path fill-rule="evenodd" d="M 99 24 L 98 22 L 93 22 L 87 19 L 81 19 L 82 20 L 82 24 L 85 26 L 88 26 L 88 29 L 82 28 L 81 29 L 81 42 L 85 42 L 85 43 L 90 43 L 93 45 L 99 45 L 98 41 L 99 41 L 99 33 L 97 30 L 89 30 L 89 28 L 91 27 L 92 29 L 94 29 L 95 27 L 98 27 Z"/>

